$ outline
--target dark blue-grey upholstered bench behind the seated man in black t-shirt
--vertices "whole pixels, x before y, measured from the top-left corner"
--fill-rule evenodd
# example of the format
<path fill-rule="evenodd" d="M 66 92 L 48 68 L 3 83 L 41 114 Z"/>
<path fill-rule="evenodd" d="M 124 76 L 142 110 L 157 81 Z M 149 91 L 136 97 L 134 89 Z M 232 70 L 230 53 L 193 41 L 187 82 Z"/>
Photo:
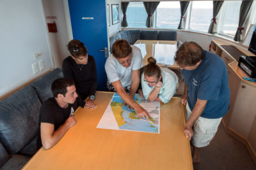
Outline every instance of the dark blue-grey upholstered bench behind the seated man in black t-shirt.
<path fill-rule="evenodd" d="M 21 169 L 36 153 L 39 110 L 61 77 L 62 70 L 54 69 L 0 101 L 0 169 Z"/>

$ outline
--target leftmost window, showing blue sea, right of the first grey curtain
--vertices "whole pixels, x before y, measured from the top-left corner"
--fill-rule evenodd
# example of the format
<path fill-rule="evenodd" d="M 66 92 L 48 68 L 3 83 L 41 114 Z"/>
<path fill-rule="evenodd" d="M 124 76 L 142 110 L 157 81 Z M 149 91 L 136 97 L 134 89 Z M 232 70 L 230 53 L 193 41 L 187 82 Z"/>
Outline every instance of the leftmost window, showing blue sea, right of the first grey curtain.
<path fill-rule="evenodd" d="M 124 15 L 122 15 L 124 17 Z M 147 12 L 142 2 L 129 3 L 126 11 L 127 27 L 145 28 L 147 21 Z"/>

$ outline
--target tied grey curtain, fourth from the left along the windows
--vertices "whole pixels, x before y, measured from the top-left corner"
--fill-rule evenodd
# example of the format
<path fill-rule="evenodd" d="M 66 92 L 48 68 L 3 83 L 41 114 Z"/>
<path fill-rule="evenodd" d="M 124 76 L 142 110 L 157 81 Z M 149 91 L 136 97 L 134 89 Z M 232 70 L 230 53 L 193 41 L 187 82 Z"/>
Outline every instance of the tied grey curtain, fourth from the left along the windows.
<path fill-rule="evenodd" d="M 217 25 L 217 18 L 216 17 L 218 15 L 224 1 L 212 1 L 212 3 L 213 3 L 213 10 L 212 10 L 212 13 L 213 13 L 212 17 L 213 18 L 212 18 L 211 25 L 210 25 L 209 30 L 208 30 L 208 33 L 210 33 L 210 34 L 214 34 L 214 33 L 217 32 L 216 31 L 216 25 Z"/>

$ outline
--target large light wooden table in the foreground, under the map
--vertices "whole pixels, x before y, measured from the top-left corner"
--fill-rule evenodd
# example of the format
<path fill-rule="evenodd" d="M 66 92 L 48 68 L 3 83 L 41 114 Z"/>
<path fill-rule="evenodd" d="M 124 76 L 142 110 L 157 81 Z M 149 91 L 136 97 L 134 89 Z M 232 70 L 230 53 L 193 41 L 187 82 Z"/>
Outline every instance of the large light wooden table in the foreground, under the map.
<path fill-rule="evenodd" d="M 193 169 L 179 97 L 161 104 L 160 134 L 154 134 L 97 129 L 112 96 L 97 92 L 97 108 L 79 108 L 77 124 L 51 149 L 40 148 L 23 169 Z"/>

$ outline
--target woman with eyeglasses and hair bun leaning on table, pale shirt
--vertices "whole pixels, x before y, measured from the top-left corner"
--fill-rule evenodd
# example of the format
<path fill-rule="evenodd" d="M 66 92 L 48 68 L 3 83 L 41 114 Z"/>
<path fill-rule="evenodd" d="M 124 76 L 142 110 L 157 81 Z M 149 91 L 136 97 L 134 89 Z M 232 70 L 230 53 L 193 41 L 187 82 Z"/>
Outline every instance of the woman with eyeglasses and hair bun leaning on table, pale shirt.
<path fill-rule="evenodd" d="M 170 69 L 156 65 L 156 59 L 148 58 L 148 65 L 141 75 L 143 96 L 149 102 L 168 103 L 179 86 L 177 75 Z"/>

